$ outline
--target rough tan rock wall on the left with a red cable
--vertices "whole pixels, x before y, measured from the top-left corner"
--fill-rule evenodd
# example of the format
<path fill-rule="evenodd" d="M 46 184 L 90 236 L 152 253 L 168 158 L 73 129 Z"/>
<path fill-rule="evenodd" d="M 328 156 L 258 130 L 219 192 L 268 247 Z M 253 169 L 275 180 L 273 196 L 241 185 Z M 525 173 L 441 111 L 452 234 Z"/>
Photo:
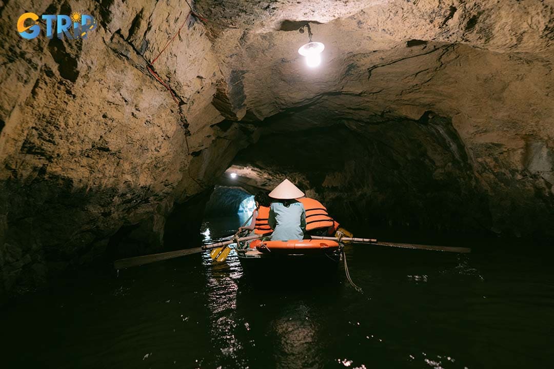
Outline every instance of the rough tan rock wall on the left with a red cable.
<path fill-rule="evenodd" d="M 86 40 L 23 40 L 25 9 L 90 13 L 99 27 Z M 203 25 L 184 1 L 4 2 L 1 12 L 0 295 L 90 262 L 116 233 L 135 245 L 126 254 L 159 249 L 174 205 L 209 188 L 242 137 L 211 126 L 224 119 L 212 105 L 222 75 Z M 178 105 L 147 65 L 183 23 L 153 64 Z"/>

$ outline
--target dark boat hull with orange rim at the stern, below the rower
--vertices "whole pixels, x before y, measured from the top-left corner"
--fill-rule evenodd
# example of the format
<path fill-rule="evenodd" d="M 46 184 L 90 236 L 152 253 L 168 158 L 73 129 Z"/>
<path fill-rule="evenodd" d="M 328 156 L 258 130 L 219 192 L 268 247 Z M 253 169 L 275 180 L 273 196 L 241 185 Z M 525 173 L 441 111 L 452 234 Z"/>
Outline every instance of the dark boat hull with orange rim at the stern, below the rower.
<path fill-rule="evenodd" d="M 263 280 L 332 276 L 343 245 L 330 240 L 253 240 L 241 242 L 237 254 L 243 269 Z"/>

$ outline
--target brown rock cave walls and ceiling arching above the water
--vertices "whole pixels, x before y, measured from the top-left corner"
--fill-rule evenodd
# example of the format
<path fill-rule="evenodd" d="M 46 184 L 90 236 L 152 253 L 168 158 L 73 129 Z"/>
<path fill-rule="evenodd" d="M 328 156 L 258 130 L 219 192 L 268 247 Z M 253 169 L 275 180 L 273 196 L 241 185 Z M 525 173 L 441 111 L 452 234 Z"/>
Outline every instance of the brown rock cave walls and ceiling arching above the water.
<path fill-rule="evenodd" d="M 28 12 L 88 14 L 94 27 L 86 38 L 48 37 L 46 18 L 19 29 Z M 117 278 L 116 259 L 198 247 L 216 240 L 214 227 L 232 234 L 252 196 L 285 178 L 355 235 L 475 244 L 487 255 L 517 249 L 533 261 L 552 246 L 550 1 L 22 0 L 0 2 L 0 14 L 7 309 L 81 273 Z M 25 38 L 32 24 L 40 33 Z M 315 61 L 299 54 L 312 41 L 324 45 Z M 222 268 L 206 275 L 229 278 Z M 537 268 L 551 290 L 552 274 Z M 275 340 L 297 340 L 285 323 Z M 254 365 L 222 352 L 224 367 Z M 479 356 L 468 352 L 459 355 Z M 304 360 L 289 354 L 274 367 Z M 365 367 L 360 355 L 337 367 Z M 450 357 L 420 359 L 455 367 Z M 326 360 L 301 367 L 333 367 Z"/>

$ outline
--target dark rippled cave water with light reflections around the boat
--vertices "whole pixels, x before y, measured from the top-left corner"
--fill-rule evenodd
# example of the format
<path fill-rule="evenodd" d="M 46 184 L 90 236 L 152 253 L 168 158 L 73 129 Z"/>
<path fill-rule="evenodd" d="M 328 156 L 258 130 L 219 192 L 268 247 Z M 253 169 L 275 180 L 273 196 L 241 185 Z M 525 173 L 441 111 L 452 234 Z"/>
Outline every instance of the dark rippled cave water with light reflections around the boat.
<path fill-rule="evenodd" d="M 206 238 L 244 217 L 204 222 Z M 209 237 L 206 230 L 209 228 Z M 185 246 L 183 244 L 183 246 Z M 475 246 L 475 245 L 471 245 Z M 237 256 L 67 277 L 2 314 L 4 368 L 551 367 L 550 254 L 348 247 L 344 277 L 265 290 Z M 283 271 L 286 273 L 286 270 Z"/>

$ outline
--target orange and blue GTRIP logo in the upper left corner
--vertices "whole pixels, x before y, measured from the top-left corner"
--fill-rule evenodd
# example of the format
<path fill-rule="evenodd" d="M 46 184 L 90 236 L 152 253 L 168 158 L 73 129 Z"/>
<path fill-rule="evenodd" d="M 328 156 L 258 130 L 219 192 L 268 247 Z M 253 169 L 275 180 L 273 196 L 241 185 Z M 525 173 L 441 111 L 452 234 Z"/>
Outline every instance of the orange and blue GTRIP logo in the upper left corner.
<path fill-rule="evenodd" d="M 96 20 L 91 15 L 78 12 L 73 12 L 71 15 L 43 14 L 41 18 L 46 22 L 46 37 L 48 38 L 54 37 L 54 27 L 56 36 L 60 39 L 64 37 L 86 39 L 88 33 L 96 28 Z M 41 23 L 37 14 L 24 13 L 17 20 L 17 32 L 24 39 L 34 39 L 40 34 Z"/>

